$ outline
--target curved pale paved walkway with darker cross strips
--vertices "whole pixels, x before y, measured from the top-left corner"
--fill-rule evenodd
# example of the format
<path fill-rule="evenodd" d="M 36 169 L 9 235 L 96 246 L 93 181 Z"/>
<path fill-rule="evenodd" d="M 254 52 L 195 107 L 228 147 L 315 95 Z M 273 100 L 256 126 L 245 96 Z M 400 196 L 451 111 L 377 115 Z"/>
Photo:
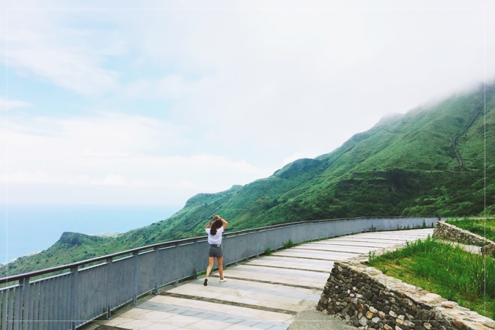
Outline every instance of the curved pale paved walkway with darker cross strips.
<path fill-rule="evenodd" d="M 425 239 L 433 229 L 366 232 L 296 245 L 218 273 L 164 287 L 126 307 L 98 330 L 111 329 L 355 329 L 316 311 L 334 261 Z M 333 322 L 332 322 L 333 321 Z"/>

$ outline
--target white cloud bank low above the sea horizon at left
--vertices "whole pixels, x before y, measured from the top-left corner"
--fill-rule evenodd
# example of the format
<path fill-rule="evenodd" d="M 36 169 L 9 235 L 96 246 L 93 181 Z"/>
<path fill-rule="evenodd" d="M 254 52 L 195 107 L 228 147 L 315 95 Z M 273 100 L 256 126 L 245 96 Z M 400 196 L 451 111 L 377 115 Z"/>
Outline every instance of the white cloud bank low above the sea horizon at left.
<path fill-rule="evenodd" d="M 173 146 L 175 140 L 181 140 L 180 129 L 144 116 L 104 113 L 91 118 L 30 121 L 12 116 L 10 122 L 8 135 L 0 135 L 8 136 L 8 140 L 0 140 L 8 147 L 8 168 L 0 163 L 0 181 L 8 182 L 12 201 L 23 199 L 23 194 L 28 198 L 31 192 L 15 188 L 25 185 L 66 187 L 44 192 L 43 200 L 52 203 L 74 202 L 76 191 L 91 187 L 97 190 L 85 195 L 87 202 L 115 203 L 104 187 L 140 190 L 134 203 L 155 200 L 157 190 L 175 195 L 174 200 L 177 196 L 185 200 L 198 192 L 247 184 L 276 170 L 225 155 L 173 155 L 180 149 Z M 5 128 L 1 132 L 5 133 Z M 59 195 L 61 189 L 72 192 Z"/>

